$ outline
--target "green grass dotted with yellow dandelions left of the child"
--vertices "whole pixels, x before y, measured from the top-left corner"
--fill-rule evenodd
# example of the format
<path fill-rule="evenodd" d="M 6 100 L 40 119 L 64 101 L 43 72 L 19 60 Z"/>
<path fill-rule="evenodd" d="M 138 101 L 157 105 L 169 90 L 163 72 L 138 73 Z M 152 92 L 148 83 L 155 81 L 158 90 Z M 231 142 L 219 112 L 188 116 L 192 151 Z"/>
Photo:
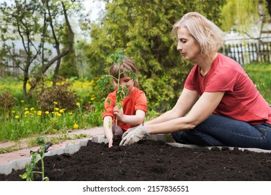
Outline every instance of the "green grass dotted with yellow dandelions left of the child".
<path fill-rule="evenodd" d="M 88 109 L 95 102 L 94 81 L 74 81 L 74 90 L 81 97 L 76 100 L 77 109 L 66 111 L 56 104 L 54 111 L 41 111 L 37 102 L 22 99 L 22 81 L 0 78 L 0 95 L 11 93 L 17 100 L 10 108 L 0 107 L 0 141 L 17 141 L 28 137 L 65 133 L 69 130 L 84 129 L 102 125 L 101 111 Z M 28 86 L 29 89 L 29 86 Z M 10 98 L 2 99 L 4 107 Z M 6 101 L 6 102 L 5 102 Z"/>

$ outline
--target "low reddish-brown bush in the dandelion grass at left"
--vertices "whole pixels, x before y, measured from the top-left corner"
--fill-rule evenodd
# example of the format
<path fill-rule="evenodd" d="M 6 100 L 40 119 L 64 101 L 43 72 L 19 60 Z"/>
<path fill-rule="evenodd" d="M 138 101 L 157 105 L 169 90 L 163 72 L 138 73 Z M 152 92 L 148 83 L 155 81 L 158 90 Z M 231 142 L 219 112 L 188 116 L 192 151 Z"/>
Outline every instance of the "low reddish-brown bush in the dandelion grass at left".
<path fill-rule="evenodd" d="M 58 77 L 56 86 L 48 86 L 46 82 L 39 81 L 31 95 L 37 100 L 38 107 L 42 111 L 54 111 L 56 102 L 61 109 L 74 110 L 79 95 L 76 95 L 71 86 L 72 83 L 63 77 Z"/>

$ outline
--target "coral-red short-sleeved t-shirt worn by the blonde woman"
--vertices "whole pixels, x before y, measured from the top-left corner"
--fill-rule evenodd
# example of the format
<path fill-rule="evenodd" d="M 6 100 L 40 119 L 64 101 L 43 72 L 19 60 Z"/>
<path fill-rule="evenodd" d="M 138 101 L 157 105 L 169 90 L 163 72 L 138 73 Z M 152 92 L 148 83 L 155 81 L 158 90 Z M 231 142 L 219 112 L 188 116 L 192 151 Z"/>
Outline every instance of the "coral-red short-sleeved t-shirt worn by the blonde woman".
<path fill-rule="evenodd" d="M 242 66 L 227 56 L 218 54 L 211 69 L 202 77 L 195 66 L 186 79 L 185 88 L 204 92 L 225 91 L 213 114 L 242 120 L 249 124 L 271 124 L 271 107 L 258 92 Z"/>

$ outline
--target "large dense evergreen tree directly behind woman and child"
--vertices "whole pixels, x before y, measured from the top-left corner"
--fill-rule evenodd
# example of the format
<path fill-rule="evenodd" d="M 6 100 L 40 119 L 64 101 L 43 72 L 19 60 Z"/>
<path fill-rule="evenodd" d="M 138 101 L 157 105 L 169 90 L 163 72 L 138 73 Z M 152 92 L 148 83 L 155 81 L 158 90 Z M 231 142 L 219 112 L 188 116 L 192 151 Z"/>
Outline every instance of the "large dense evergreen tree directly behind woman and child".
<path fill-rule="evenodd" d="M 185 13 L 198 11 L 219 23 L 225 1 L 115 0 L 106 1 L 106 15 L 92 24 L 92 43 L 86 55 L 90 66 L 107 73 L 106 56 L 124 48 L 138 65 L 139 81 L 150 107 L 165 110 L 179 97 L 190 63 L 181 60 L 172 26 Z M 101 69 L 104 72 L 101 72 Z M 90 77 L 99 77 L 93 72 Z"/>

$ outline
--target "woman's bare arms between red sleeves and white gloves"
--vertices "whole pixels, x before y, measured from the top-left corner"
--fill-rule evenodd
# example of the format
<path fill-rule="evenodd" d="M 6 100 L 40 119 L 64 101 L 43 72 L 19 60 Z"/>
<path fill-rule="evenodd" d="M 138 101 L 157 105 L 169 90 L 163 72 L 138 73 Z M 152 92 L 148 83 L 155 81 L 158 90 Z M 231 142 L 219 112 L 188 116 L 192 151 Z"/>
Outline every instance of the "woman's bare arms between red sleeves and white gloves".
<path fill-rule="evenodd" d="M 204 92 L 199 98 L 199 100 L 195 102 L 194 106 L 192 106 L 192 109 L 186 116 L 184 116 L 184 111 L 187 111 L 186 109 L 191 107 L 191 103 L 193 101 L 189 99 L 184 100 L 180 97 L 178 102 L 176 103 L 176 106 L 174 107 L 176 111 L 169 111 L 170 114 L 174 113 L 175 116 L 170 116 L 169 114 L 166 114 L 163 117 L 162 115 L 163 120 L 156 120 L 157 123 L 146 123 L 145 127 L 150 134 L 170 133 L 179 130 L 190 130 L 199 125 L 199 123 L 202 123 L 202 121 L 204 121 L 206 118 L 208 118 L 208 116 L 213 113 L 217 105 L 222 100 L 224 93 L 224 91 L 215 93 Z M 193 100 L 195 101 L 195 98 Z M 186 105 L 186 103 L 188 103 L 188 105 Z M 181 109 L 182 106 L 185 108 Z M 165 120 L 168 118 L 170 118 L 170 120 Z"/>

